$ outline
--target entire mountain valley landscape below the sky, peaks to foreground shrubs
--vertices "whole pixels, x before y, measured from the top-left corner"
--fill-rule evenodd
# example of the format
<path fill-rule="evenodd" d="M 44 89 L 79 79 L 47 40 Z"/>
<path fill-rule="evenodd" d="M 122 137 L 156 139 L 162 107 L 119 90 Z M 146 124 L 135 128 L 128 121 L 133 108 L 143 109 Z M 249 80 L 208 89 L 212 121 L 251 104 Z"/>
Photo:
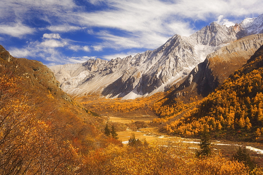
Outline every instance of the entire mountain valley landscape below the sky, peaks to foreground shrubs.
<path fill-rule="evenodd" d="M 263 14 L 110 61 L 0 45 L 0 79 L 1 174 L 263 173 Z"/>

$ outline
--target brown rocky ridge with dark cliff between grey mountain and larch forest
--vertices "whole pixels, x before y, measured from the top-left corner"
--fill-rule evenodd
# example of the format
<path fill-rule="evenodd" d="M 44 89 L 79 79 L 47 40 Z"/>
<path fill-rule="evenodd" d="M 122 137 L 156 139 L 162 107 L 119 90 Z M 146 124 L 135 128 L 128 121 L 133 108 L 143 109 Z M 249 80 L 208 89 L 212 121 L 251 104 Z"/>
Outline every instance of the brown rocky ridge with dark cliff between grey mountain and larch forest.
<path fill-rule="evenodd" d="M 262 44 L 263 34 L 255 34 L 241 38 L 208 54 L 205 61 L 190 72 L 175 92 L 196 91 L 202 96 L 207 96 L 231 73 L 242 67 Z"/>

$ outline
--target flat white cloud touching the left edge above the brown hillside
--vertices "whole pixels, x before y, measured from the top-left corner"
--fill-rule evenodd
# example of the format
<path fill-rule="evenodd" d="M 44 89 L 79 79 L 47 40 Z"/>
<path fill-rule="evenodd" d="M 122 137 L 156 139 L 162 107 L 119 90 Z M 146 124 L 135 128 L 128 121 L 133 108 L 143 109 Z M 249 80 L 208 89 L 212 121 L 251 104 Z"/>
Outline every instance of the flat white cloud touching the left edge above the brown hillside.
<path fill-rule="evenodd" d="M 34 28 L 23 25 L 22 23 L 11 23 L 9 25 L 0 24 L 0 33 L 7 34 L 13 37 L 21 38 L 26 34 L 33 34 Z"/>

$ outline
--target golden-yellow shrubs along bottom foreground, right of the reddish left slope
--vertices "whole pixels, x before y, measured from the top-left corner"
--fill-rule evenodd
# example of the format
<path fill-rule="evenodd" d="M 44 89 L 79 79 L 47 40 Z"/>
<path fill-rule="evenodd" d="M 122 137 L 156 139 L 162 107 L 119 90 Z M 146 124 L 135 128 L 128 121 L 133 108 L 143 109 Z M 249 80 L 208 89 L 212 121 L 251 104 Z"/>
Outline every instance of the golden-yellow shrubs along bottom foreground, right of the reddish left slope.
<path fill-rule="evenodd" d="M 242 163 L 220 155 L 197 158 L 181 142 L 166 146 L 143 143 L 123 148 L 109 145 L 86 158 L 87 174 L 249 174 Z"/>

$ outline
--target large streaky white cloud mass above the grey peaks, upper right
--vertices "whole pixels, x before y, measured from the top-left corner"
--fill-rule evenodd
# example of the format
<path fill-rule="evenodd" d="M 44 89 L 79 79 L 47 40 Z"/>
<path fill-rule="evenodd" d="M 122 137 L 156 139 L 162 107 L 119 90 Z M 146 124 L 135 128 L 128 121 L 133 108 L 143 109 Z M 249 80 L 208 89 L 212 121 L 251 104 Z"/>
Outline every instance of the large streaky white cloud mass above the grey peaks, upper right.
<path fill-rule="evenodd" d="M 208 21 L 214 18 L 219 20 L 219 15 L 224 15 L 224 19 L 219 22 L 222 25 L 230 26 L 234 24 L 229 21 L 229 17 L 236 18 L 240 15 L 262 13 L 263 4 L 257 1 L 240 0 L 237 4 L 234 0 L 181 0 L 181 1 L 130 1 L 130 0 L 90 0 L 94 5 L 102 3 L 110 8 L 102 11 L 79 12 L 77 21 L 79 24 L 87 27 L 103 27 L 119 29 L 121 32 L 127 32 L 127 35 L 118 35 L 107 32 L 94 33 L 88 32 L 104 39 L 102 43 L 97 43 L 101 48 L 138 48 L 145 47 L 154 49 L 163 44 L 174 34 L 189 36 L 196 29 L 192 27 L 189 20 Z M 256 9 L 255 6 L 261 9 Z M 246 7 L 246 9 L 244 9 Z M 208 21 L 208 23 L 211 21 Z M 239 22 L 239 21 L 237 21 Z M 240 21 L 241 22 L 241 21 Z M 97 46 L 96 46 L 97 47 Z"/>

